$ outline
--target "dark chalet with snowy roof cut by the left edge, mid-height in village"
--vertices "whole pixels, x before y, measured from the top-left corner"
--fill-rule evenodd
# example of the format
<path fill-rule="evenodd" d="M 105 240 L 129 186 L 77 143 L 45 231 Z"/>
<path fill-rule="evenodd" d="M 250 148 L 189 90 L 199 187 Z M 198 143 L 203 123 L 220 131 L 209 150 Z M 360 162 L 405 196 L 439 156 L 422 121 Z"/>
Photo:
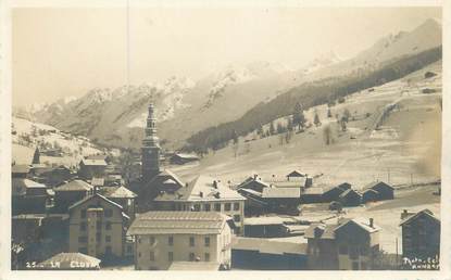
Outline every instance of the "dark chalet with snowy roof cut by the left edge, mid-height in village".
<path fill-rule="evenodd" d="M 50 199 L 45 184 L 26 178 L 12 178 L 13 215 L 46 213 Z"/>

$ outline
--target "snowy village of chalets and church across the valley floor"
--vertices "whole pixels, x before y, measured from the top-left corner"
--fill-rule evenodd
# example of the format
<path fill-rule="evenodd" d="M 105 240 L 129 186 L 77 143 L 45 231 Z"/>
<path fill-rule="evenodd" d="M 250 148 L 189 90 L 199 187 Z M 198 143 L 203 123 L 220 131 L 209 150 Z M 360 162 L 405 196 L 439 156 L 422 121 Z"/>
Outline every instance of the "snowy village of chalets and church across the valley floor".
<path fill-rule="evenodd" d="M 12 165 L 12 269 L 439 269 L 439 213 L 409 205 L 439 202 L 440 181 L 330 183 L 302 166 L 185 179 L 202 158 L 163 153 L 154 112 L 126 174 L 103 153 L 42 164 L 39 148 Z"/>

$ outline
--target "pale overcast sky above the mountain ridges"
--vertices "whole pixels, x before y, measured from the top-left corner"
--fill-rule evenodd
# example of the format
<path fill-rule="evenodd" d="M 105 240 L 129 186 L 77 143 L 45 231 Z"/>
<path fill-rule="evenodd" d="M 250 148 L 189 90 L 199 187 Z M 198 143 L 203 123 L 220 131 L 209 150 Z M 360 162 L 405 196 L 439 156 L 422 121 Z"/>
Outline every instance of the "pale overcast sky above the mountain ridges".
<path fill-rule="evenodd" d="M 438 8 L 21 8 L 13 11 L 13 104 L 79 97 L 95 87 L 201 78 L 254 61 L 292 68 L 335 51 L 441 21 Z M 129 55 L 127 55 L 127 38 Z"/>

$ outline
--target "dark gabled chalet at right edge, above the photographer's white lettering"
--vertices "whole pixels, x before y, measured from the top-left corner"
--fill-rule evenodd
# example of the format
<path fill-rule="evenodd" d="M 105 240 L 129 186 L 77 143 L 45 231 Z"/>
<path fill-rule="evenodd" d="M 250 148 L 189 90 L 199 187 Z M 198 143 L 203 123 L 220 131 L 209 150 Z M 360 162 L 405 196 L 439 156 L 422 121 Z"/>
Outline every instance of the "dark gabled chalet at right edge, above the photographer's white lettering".
<path fill-rule="evenodd" d="M 429 209 L 401 214 L 402 256 L 409 259 L 440 256 L 440 219 Z"/>

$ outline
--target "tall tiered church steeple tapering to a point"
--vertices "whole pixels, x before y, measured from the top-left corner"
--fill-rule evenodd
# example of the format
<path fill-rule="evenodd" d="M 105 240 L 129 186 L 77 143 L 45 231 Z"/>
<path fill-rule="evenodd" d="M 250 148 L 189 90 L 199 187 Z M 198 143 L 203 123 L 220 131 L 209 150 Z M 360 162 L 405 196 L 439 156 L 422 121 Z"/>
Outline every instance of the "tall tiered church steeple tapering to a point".
<path fill-rule="evenodd" d="M 160 173 L 160 143 L 156 136 L 156 119 L 153 104 L 149 104 L 149 115 L 146 124 L 146 135 L 141 148 L 141 175 L 145 181 L 151 180 Z"/>

